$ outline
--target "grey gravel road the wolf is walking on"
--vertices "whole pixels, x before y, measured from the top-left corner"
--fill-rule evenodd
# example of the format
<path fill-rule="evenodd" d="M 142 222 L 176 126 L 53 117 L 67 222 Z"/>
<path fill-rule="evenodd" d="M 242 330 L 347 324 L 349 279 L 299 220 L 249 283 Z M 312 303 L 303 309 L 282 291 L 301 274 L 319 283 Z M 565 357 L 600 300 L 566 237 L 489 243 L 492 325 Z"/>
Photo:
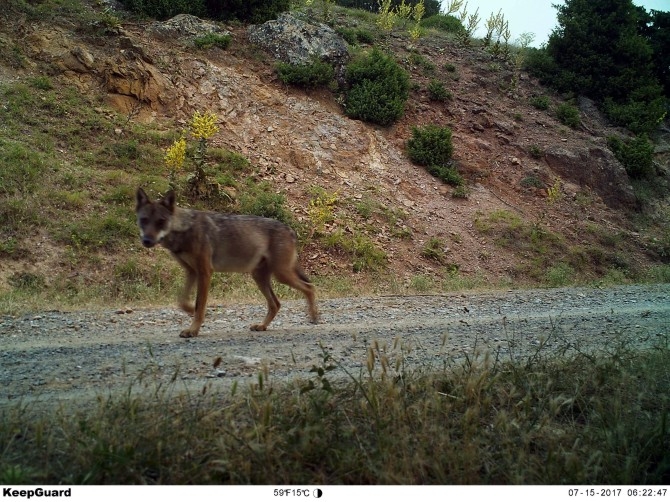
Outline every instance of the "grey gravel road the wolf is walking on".
<path fill-rule="evenodd" d="M 308 377 L 322 348 L 354 374 L 368 348 L 392 363 L 442 367 L 490 351 L 523 357 L 538 348 L 614 351 L 621 343 L 668 344 L 670 284 L 564 288 L 319 302 L 309 324 L 302 301 L 286 301 L 265 333 L 248 326 L 264 306 L 213 306 L 200 336 L 178 337 L 189 318 L 176 308 L 39 312 L 0 317 L 0 406 L 141 389 L 149 378 L 184 387 Z M 214 368 L 213 362 L 221 358 Z M 379 366 L 377 366 L 379 368 Z"/>

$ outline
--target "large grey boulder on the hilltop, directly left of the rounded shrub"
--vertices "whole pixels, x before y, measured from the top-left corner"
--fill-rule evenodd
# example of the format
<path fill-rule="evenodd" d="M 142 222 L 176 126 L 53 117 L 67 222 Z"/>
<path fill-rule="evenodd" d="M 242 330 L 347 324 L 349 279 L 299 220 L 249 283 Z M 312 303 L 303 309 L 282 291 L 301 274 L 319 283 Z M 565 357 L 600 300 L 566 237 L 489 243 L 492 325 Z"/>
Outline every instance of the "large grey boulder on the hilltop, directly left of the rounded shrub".
<path fill-rule="evenodd" d="M 248 29 L 249 40 L 275 59 L 294 65 L 314 59 L 343 68 L 349 60 L 347 44 L 325 24 L 310 24 L 284 12 L 278 19 Z"/>

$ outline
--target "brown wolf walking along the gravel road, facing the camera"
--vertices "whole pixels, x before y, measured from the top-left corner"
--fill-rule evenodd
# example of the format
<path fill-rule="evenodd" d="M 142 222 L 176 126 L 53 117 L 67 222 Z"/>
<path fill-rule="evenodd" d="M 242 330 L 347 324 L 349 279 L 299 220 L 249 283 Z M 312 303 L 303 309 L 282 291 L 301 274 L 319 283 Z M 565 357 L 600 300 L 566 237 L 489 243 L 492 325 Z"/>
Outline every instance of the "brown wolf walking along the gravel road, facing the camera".
<path fill-rule="evenodd" d="M 250 273 L 268 303 L 268 313 L 254 331 L 265 331 L 280 303 L 271 277 L 301 291 L 312 322 L 317 322 L 314 286 L 298 263 L 295 232 L 283 223 L 260 216 L 221 214 L 175 206 L 173 192 L 151 202 L 137 190 L 137 223 L 145 247 L 161 244 L 170 250 L 186 272 L 179 306 L 193 315 L 182 338 L 198 335 L 205 319 L 207 294 L 213 272 Z M 189 298 L 197 285 L 195 305 Z"/>

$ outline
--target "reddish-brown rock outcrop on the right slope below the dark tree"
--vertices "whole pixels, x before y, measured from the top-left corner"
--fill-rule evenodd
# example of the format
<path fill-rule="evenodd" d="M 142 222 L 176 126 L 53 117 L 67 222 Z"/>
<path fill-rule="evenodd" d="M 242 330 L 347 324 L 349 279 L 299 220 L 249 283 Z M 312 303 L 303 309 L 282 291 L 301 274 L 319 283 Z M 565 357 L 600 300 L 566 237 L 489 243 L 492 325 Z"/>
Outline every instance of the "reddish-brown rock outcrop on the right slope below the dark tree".
<path fill-rule="evenodd" d="M 626 169 L 606 148 L 566 148 L 564 145 L 545 150 L 545 159 L 557 174 L 592 188 L 608 206 L 633 209 L 637 198 Z"/>

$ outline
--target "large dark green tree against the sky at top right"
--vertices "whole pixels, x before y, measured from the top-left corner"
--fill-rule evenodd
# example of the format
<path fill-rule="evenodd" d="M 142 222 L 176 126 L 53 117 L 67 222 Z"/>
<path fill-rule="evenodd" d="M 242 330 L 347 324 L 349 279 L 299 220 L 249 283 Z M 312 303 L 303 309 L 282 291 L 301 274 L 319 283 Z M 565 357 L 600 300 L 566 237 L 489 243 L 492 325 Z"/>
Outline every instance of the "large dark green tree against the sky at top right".
<path fill-rule="evenodd" d="M 631 0 L 568 0 L 557 10 L 559 28 L 546 47 L 528 49 L 525 68 L 544 85 L 593 99 L 636 134 L 653 131 L 667 109 L 670 15 L 648 15 Z"/>

